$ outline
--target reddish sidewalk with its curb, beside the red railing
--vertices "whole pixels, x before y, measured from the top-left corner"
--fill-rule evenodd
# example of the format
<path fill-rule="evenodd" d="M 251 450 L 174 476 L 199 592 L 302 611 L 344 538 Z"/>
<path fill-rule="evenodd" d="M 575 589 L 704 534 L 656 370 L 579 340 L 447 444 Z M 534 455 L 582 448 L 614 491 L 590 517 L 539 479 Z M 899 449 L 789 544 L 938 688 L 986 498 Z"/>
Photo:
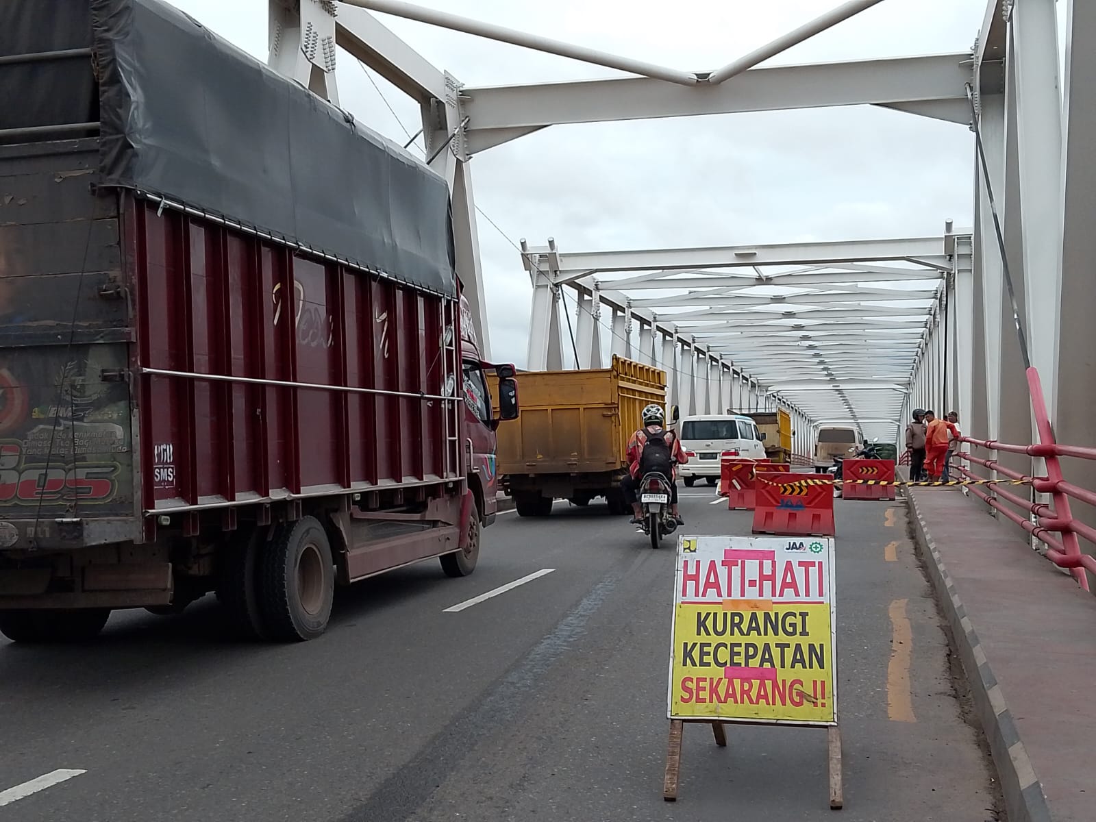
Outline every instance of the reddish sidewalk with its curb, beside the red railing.
<path fill-rule="evenodd" d="M 979 500 L 912 488 L 907 499 L 1009 822 L 1096 819 L 1096 596 Z"/>

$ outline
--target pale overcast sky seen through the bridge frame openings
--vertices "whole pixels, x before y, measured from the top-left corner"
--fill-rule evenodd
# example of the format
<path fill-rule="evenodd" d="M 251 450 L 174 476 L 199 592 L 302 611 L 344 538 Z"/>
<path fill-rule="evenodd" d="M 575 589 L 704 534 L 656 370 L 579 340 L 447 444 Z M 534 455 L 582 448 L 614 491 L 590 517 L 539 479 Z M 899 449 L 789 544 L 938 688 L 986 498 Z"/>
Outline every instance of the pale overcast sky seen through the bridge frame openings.
<path fill-rule="evenodd" d="M 265 59 L 266 0 L 171 2 Z M 421 4 L 651 62 L 710 70 L 837 2 Z M 985 0 L 920 0 L 915 11 L 909 2 L 884 0 L 765 65 L 969 49 L 984 11 Z M 620 76 L 377 16 L 469 87 Z M 343 107 L 406 142 L 419 129 L 418 106 L 345 53 L 339 57 Z M 939 235 L 947 218 L 957 228 L 972 222 L 972 158 L 973 137 L 964 126 L 866 106 L 555 126 L 490 149 L 475 158 L 472 170 L 483 212 L 479 237 L 492 354 L 525 361 L 530 287 L 512 244 L 522 237 L 535 246 L 555 237 L 567 252 Z"/>

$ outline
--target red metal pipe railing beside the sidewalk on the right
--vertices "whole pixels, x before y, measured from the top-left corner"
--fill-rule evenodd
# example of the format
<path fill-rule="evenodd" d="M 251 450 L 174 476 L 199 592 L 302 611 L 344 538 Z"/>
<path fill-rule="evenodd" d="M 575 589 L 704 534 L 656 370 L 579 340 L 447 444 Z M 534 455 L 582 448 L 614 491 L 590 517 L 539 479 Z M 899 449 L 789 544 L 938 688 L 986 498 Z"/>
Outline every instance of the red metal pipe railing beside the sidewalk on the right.
<path fill-rule="evenodd" d="M 1096 493 L 1066 482 L 1062 477 L 1061 457 L 1075 457 L 1077 459 L 1096 460 L 1096 448 L 1084 448 L 1072 445 L 1059 445 L 1054 442 L 1054 432 L 1050 426 L 1050 416 L 1047 414 L 1047 402 L 1042 395 L 1042 383 L 1039 373 L 1035 368 L 1027 370 L 1028 390 L 1031 395 L 1031 411 L 1035 414 L 1036 431 L 1039 442 L 1034 445 L 1009 445 L 998 443 L 993 439 L 972 439 L 961 437 L 961 441 L 979 448 L 990 452 L 1005 452 L 1008 454 L 1023 454 L 1029 457 L 1040 457 L 1047 465 L 1046 477 L 1029 477 L 1018 471 L 1014 471 L 1000 465 L 995 459 L 981 459 L 971 454 L 960 454 L 959 457 L 975 465 L 980 465 L 991 471 L 996 471 L 1002 477 L 1017 480 L 1034 488 L 1038 493 L 1050 494 L 1051 504 L 1032 502 L 1018 494 L 1006 491 L 997 483 L 991 483 L 987 488 L 990 493 L 980 491 L 978 487 L 970 486 L 972 494 L 983 500 L 995 511 L 1019 525 L 1024 530 L 1031 534 L 1036 539 L 1047 546 L 1047 559 L 1059 568 L 1066 568 L 1076 579 L 1077 583 L 1088 590 L 1088 579 L 1085 569 L 1096 573 L 1096 558 L 1084 553 L 1081 550 L 1081 539 L 1085 539 L 1096 545 L 1096 528 L 1092 528 L 1078 521 L 1070 511 L 1070 500 L 1076 500 L 1088 505 L 1096 505 Z M 968 479 L 978 480 L 980 477 L 961 466 L 956 469 Z M 1002 502 L 1004 500 L 1005 502 Z M 1008 503 L 1023 512 L 1018 513 Z M 1034 522 L 1030 517 L 1035 517 Z M 1057 535 L 1057 536 L 1055 536 Z"/>

